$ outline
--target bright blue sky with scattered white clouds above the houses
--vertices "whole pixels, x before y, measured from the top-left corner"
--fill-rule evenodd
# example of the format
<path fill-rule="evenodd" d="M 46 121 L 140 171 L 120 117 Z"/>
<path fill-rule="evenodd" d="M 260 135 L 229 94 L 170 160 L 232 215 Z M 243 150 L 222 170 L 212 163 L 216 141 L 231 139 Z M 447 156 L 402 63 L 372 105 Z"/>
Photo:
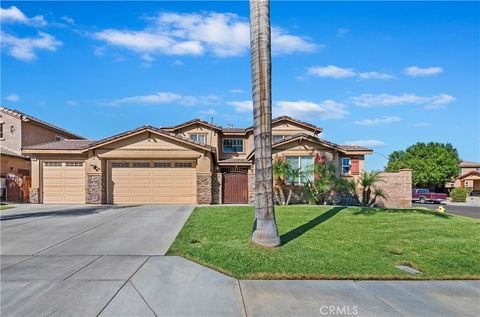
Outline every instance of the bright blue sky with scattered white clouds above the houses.
<path fill-rule="evenodd" d="M 91 139 L 196 117 L 252 123 L 246 1 L 1 7 L 2 105 Z M 480 161 L 479 13 L 478 2 L 273 2 L 274 114 L 383 155 L 438 141 Z"/>

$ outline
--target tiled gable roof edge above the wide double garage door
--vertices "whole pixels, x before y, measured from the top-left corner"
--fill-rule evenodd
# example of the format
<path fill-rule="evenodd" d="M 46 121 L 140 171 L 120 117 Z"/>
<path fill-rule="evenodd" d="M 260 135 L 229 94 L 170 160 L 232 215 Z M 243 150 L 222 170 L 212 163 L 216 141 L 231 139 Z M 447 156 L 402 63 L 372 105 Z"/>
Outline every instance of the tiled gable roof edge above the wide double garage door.
<path fill-rule="evenodd" d="M 126 132 L 123 132 L 123 133 L 113 135 L 113 136 L 108 137 L 108 138 L 104 138 L 104 139 L 95 141 L 93 143 L 90 143 L 86 146 L 81 147 L 79 150 L 81 150 L 81 151 L 91 150 L 91 149 L 103 146 L 105 144 L 109 144 L 109 143 L 121 140 L 123 138 L 129 137 L 131 135 L 135 135 L 135 134 L 139 134 L 139 133 L 143 133 L 143 132 L 152 132 L 152 133 L 155 133 L 155 134 L 166 136 L 167 138 L 170 138 L 170 139 L 173 139 L 173 140 L 176 140 L 176 141 L 180 141 L 180 142 L 183 142 L 183 143 L 186 143 L 186 144 L 193 145 L 193 146 L 198 147 L 198 148 L 208 150 L 210 152 L 215 152 L 215 148 L 210 146 L 210 145 L 195 142 L 195 141 L 192 141 L 190 139 L 179 136 L 177 134 L 165 131 L 163 129 L 158 129 L 158 128 L 155 128 L 155 127 L 152 127 L 152 126 L 149 126 L 149 125 L 145 125 L 145 126 L 133 129 L 133 130 L 129 130 L 129 131 L 126 131 Z"/>

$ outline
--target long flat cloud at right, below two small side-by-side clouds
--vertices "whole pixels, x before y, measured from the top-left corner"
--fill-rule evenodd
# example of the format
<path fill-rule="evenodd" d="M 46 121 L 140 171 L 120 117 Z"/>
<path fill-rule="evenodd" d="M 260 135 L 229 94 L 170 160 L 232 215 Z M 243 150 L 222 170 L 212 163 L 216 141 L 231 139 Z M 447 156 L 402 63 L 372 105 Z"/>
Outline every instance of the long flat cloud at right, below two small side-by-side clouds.
<path fill-rule="evenodd" d="M 415 94 L 362 94 L 352 97 L 354 105 L 364 108 L 388 107 L 396 105 L 419 104 L 425 109 L 438 109 L 455 100 L 455 97 L 447 94 L 433 96 L 417 96 Z"/>

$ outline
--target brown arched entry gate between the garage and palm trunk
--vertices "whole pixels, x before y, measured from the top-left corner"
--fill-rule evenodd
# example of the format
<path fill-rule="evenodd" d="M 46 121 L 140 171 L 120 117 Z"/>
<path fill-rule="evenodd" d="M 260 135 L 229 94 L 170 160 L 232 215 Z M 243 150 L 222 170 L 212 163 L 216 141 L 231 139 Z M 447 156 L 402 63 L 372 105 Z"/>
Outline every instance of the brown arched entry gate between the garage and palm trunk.
<path fill-rule="evenodd" d="M 248 204 L 248 175 L 246 169 L 229 169 L 223 173 L 223 203 Z"/>

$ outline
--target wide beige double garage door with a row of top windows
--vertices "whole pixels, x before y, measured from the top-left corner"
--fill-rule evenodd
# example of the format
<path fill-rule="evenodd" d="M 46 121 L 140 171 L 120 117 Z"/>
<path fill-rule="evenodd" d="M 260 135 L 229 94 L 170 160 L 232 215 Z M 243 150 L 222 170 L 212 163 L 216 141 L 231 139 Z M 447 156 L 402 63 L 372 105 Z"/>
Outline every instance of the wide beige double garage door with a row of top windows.
<path fill-rule="evenodd" d="M 194 162 L 110 162 L 114 204 L 195 204 Z"/>

